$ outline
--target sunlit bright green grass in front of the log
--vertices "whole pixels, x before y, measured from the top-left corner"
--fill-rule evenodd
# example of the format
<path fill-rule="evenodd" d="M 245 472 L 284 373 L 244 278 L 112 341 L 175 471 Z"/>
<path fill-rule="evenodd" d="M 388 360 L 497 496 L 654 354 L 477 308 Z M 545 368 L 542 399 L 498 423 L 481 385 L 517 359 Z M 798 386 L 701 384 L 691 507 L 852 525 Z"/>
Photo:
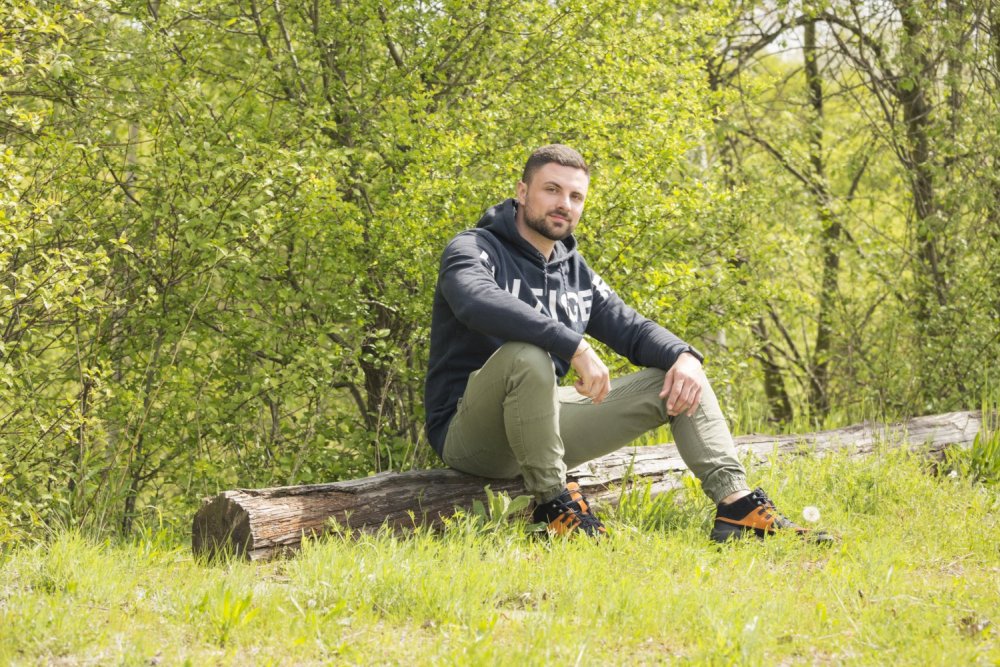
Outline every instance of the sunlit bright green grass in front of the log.
<path fill-rule="evenodd" d="M 996 486 L 899 453 L 754 471 L 832 548 L 717 548 L 695 485 L 605 512 L 610 539 L 332 537 L 206 566 L 169 531 L 0 555 L 0 664 L 1000 664 Z"/>

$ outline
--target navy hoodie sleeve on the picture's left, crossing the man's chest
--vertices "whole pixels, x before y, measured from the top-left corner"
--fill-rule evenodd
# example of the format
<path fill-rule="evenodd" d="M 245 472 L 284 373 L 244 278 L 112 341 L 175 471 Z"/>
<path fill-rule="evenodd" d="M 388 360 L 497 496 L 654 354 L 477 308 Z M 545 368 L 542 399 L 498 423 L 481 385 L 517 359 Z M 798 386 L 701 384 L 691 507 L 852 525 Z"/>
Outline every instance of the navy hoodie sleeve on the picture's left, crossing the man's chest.
<path fill-rule="evenodd" d="M 459 234 L 445 248 L 438 287 L 455 318 L 469 329 L 537 345 L 569 360 L 583 336 L 543 315 L 497 284 L 495 250 L 477 234 Z"/>

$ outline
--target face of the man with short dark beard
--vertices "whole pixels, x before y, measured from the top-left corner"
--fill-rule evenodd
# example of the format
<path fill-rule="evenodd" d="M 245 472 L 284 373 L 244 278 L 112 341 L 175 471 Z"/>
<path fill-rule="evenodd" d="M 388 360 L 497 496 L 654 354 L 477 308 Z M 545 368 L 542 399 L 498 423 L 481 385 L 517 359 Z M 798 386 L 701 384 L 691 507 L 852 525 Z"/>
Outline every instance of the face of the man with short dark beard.
<path fill-rule="evenodd" d="M 542 166 L 532 174 L 530 183 L 517 184 L 525 224 L 551 241 L 562 241 L 580 222 L 589 184 L 582 169 L 555 162 Z"/>

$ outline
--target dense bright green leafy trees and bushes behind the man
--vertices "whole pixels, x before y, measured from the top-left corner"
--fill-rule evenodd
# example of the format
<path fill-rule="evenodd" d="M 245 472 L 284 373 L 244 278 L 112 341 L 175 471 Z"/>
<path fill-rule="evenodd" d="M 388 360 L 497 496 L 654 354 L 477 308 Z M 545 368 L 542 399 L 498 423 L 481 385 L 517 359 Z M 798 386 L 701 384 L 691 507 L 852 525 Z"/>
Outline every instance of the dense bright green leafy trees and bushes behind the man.
<path fill-rule="evenodd" d="M 989 0 L 0 0 L 0 541 L 433 464 L 437 256 L 536 145 L 743 428 L 978 406 Z"/>

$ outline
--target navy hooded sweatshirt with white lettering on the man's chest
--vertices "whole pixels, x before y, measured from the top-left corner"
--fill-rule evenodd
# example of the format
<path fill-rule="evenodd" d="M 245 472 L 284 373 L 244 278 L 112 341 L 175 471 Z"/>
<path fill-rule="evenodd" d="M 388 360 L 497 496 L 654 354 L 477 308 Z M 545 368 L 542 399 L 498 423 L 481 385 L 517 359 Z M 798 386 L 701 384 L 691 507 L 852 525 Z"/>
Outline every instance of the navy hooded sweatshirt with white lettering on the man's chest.
<path fill-rule="evenodd" d="M 576 250 L 557 241 L 546 260 L 517 231 L 517 202 L 490 208 L 441 256 L 424 392 L 427 438 L 440 455 L 469 375 L 507 341 L 537 345 L 558 377 L 586 333 L 636 366 L 668 370 L 690 345 L 629 308 Z"/>

